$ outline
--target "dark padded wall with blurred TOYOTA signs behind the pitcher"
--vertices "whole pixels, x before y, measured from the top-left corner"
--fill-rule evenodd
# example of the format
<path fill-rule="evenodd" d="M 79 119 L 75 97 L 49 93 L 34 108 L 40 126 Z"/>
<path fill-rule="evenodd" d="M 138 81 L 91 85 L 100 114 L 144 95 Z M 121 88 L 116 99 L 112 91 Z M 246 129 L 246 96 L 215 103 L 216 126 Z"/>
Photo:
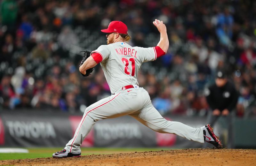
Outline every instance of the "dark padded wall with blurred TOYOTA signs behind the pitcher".
<path fill-rule="evenodd" d="M 2 111 L 0 112 L 0 146 L 64 147 L 72 139 L 81 118 L 82 115 L 60 112 Z M 201 127 L 206 123 L 205 117 L 166 116 L 165 118 L 192 127 Z M 239 147 L 256 147 L 255 141 L 245 143 L 243 137 L 238 133 L 241 132 L 241 125 L 248 126 L 250 123 L 250 126 L 256 126 L 256 120 L 235 119 L 234 123 L 236 124 L 236 122 L 239 122 L 240 127 L 234 129 L 235 144 Z M 220 133 L 220 137 L 223 137 L 224 144 L 226 130 L 225 122 L 218 123 L 214 128 L 214 132 Z M 250 131 L 248 127 L 244 130 Z M 252 132 L 255 135 L 255 130 Z M 125 116 L 98 121 L 85 138 L 82 147 L 200 148 L 203 147 L 203 144 L 186 140 L 174 134 L 154 132 L 134 118 Z"/>

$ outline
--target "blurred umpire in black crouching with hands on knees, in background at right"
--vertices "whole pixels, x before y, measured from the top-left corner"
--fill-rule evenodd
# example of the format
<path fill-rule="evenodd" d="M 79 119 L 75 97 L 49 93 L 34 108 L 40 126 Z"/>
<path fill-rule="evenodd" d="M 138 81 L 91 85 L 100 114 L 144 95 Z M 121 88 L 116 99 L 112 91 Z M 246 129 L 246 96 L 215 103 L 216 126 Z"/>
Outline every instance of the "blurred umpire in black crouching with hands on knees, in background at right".
<path fill-rule="evenodd" d="M 228 124 L 228 148 L 233 148 L 232 111 L 236 108 L 238 92 L 228 80 L 224 70 L 216 72 L 215 84 L 205 90 L 206 100 L 211 112 L 208 112 L 207 123 L 214 125 L 219 117 L 225 117 Z"/>

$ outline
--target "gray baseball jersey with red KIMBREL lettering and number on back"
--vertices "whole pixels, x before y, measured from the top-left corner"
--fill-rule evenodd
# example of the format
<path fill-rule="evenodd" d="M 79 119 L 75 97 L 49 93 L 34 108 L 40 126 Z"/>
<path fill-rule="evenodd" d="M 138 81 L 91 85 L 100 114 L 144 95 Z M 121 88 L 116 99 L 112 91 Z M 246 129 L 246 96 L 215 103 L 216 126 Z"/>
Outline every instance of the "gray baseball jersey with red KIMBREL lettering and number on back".
<path fill-rule="evenodd" d="M 125 42 L 101 45 L 93 52 L 102 56 L 100 65 L 111 93 L 126 85 L 139 85 L 137 76 L 142 63 L 156 60 L 155 47 L 132 47 Z"/>

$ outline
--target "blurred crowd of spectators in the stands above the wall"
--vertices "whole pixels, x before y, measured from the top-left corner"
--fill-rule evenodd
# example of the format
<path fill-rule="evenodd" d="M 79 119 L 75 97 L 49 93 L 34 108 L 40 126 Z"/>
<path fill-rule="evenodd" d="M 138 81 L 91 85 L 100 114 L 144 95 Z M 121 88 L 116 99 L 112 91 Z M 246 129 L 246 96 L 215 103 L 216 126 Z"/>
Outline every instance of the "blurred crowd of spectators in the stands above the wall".
<path fill-rule="evenodd" d="M 153 47 L 167 26 L 170 48 L 143 64 L 140 87 L 161 114 L 204 116 L 205 87 L 225 68 L 240 93 L 237 116 L 256 115 L 256 2 L 253 0 L 0 0 L 0 107 L 83 111 L 110 95 L 97 65 L 80 75 L 80 51 L 106 44 L 121 20 L 130 45 Z M 249 114 L 248 114 L 249 115 Z"/>

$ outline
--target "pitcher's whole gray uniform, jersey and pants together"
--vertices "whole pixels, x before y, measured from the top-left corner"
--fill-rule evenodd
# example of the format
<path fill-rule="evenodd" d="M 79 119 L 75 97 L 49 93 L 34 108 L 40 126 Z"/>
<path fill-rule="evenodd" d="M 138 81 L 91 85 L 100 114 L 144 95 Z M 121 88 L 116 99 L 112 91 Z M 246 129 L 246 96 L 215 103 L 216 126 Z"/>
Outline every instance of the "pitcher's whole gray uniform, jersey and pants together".
<path fill-rule="evenodd" d="M 159 48 L 132 47 L 125 42 L 116 42 L 101 45 L 92 51 L 98 53 L 97 57 L 93 58 L 97 63 L 101 61 L 100 65 L 112 95 L 85 109 L 74 137 L 66 144 L 65 149 L 68 152 L 81 152 L 80 146 L 84 138 L 98 120 L 124 115 L 135 118 L 154 131 L 174 133 L 188 140 L 204 142 L 203 127 L 193 128 L 180 122 L 166 120 L 155 109 L 148 92 L 142 87 L 133 86 L 122 90 L 122 87 L 127 85 L 138 85 L 137 75 L 141 64 L 156 60 L 157 49 Z"/>

